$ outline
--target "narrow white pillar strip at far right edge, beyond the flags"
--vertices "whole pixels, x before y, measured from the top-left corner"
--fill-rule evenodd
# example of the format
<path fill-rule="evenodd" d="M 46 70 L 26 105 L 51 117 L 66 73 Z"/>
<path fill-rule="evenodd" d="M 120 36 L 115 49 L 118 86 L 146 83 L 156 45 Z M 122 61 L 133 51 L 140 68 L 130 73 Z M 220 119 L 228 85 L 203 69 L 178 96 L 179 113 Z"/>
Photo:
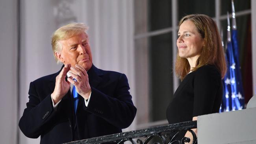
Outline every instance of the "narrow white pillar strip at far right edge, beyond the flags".
<path fill-rule="evenodd" d="M 256 94 L 256 1 L 251 0 L 251 21 L 252 21 L 252 89 Z"/>

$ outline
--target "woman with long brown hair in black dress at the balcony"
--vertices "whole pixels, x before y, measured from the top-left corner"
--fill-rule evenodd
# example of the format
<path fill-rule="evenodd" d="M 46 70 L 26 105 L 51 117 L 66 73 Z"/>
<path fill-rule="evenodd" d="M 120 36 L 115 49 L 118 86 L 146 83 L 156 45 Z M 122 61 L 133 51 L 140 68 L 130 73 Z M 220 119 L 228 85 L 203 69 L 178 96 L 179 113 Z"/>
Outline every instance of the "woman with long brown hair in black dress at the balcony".
<path fill-rule="evenodd" d="M 218 113 L 226 61 L 218 28 L 207 15 L 187 15 L 180 20 L 176 74 L 182 82 L 167 107 L 169 124 L 197 120 Z M 197 129 L 193 129 L 197 133 Z M 186 133 L 186 137 L 190 137 Z"/>

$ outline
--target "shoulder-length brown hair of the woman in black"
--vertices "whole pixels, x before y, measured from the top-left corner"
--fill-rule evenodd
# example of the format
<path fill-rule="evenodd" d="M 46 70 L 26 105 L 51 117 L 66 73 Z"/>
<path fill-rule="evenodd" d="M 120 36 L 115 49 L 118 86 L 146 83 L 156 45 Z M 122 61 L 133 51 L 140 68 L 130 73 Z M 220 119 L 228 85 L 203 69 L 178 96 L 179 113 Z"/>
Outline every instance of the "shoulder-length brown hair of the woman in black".
<path fill-rule="evenodd" d="M 211 64 L 215 65 L 221 77 L 224 78 L 226 74 L 226 60 L 224 57 L 224 49 L 221 43 L 221 37 L 217 28 L 217 25 L 207 15 L 187 15 L 183 17 L 179 26 L 186 20 L 193 22 L 200 33 L 202 39 L 204 39 L 204 46 L 202 47 L 202 52 L 197 59 L 196 66 L 192 71 L 197 70 L 201 66 Z M 180 79 L 184 77 L 190 71 L 190 65 L 186 58 L 182 58 L 177 54 L 176 64 L 175 64 L 176 74 Z"/>

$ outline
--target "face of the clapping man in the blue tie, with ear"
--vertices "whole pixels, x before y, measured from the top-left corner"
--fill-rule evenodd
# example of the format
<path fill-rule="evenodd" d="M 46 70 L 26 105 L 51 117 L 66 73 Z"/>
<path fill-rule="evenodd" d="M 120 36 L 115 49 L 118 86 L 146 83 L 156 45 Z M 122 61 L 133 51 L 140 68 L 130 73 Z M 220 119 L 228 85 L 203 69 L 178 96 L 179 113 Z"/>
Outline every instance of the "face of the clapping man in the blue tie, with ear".
<path fill-rule="evenodd" d="M 83 66 L 86 71 L 91 68 L 93 57 L 88 35 L 86 33 L 75 35 L 59 42 L 62 45 L 62 50 L 55 53 L 59 61 L 64 64 L 71 64 L 73 67 L 75 67 L 76 64 L 79 64 Z"/>

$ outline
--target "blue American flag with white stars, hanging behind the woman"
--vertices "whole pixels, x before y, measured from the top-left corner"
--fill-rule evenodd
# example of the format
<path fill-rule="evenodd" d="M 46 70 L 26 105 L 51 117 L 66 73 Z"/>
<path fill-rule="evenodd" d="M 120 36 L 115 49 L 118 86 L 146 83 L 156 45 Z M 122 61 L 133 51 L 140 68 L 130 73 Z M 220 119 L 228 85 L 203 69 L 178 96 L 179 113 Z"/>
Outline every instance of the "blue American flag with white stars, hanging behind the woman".
<path fill-rule="evenodd" d="M 239 46 L 237 41 L 236 17 L 232 0 L 232 35 L 228 14 L 226 61 L 227 73 L 223 79 L 223 102 L 220 112 L 235 111 L 244 108 L 244 93 L 239 65 Z"/>

